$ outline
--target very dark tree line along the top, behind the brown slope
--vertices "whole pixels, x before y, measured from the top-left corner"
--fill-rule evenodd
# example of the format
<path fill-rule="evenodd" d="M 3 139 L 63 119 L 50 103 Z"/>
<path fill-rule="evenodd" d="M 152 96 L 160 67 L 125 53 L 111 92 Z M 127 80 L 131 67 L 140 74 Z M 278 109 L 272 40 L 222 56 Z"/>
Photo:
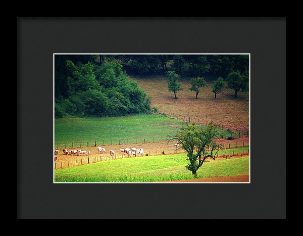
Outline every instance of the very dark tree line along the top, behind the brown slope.
<path fill-rule="evenodd" d="M 107 55 L 106 55 L 107 56 Z M 232 71 L 249 72 L 248 55 L 111 55 L 120 60 L 127 72 L 153 74 L 171 68 L 181 76 L 216 76 L 226 78 Z M 100 61 L 104 60 L 100 56 Z"/>

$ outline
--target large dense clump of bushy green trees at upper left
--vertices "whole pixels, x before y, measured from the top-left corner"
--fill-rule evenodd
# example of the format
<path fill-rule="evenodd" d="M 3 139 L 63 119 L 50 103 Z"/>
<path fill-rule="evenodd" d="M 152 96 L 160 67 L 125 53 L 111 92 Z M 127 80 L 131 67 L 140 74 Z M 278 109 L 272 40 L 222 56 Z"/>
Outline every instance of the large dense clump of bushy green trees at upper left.
<path fill-rule="evenodd" d="M 63 55 L 64 56 L 64 55 Z M 77 65 L 72 60 L 58 60 L 55 68 L 55 117 L 121 116 L 148 113 L 151 99 L 131 81 L 122 65 L 102 57 L 101 65 L 88 61 Z M 82 60 L 83 61 L 83 60 Z M 64 63 L 64 66 L 62 65 Z M 60 76 L 56 79 L 56 75 Z M 63 79 L 65 82 L 63 83 Z M 56 89 L 57 82 L 65 89 Z M 57 91 L 57 92 L 56 92 Z"/>

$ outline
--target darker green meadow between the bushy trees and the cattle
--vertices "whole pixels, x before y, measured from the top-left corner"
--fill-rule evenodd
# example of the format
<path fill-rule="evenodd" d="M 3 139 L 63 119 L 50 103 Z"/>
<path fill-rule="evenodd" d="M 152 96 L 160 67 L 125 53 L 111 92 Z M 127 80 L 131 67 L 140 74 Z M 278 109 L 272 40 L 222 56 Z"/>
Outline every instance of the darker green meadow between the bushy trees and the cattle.
<path fill-rule="evenodd" d="M 93 145 L 143 143 L 163 141 L 167 135 L 174 135 L 185 122 L 163 115 L 133 115 L 103 118 L 65 117 L 55 119 L 55 147 L 71 146 L 72 143 Z M 200 127 L 203 127 L 199 125 Z M 225 130 L 220 130 L 224 137 L 230 136 Z M 154 139 L 153 139 L 154 138 Z M 113 143 L 112 143 L 113 142 Z"/>

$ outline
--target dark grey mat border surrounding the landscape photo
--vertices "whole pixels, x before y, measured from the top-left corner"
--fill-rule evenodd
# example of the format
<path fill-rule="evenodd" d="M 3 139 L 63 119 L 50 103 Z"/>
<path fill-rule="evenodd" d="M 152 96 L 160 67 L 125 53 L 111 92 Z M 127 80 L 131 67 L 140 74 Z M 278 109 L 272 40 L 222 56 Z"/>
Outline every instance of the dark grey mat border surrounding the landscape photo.
<path fill-rule="evenodd" d="M 53 54 L 95 52 L 250 53 L 250 184 L 54 184 Z M 285 218 L 285 85 L 285 18 L 18 18 L 17 218 Z"/>

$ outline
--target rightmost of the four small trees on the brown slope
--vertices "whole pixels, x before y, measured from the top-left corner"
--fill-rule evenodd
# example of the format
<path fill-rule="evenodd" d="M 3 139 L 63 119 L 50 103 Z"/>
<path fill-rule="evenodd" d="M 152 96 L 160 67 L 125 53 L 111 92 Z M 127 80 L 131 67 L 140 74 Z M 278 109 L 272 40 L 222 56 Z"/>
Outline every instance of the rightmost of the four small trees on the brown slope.
<path fill-rule="evenodd" d="M 226 80 L 227 86 L 235 91 L 235 98 L 238 97 L 238 91 L 247 92 L 249 89 L 248 78 L 239 72 L 229 73 Z"/>

